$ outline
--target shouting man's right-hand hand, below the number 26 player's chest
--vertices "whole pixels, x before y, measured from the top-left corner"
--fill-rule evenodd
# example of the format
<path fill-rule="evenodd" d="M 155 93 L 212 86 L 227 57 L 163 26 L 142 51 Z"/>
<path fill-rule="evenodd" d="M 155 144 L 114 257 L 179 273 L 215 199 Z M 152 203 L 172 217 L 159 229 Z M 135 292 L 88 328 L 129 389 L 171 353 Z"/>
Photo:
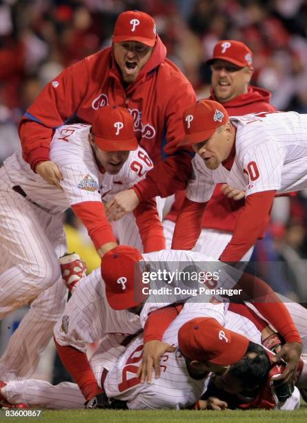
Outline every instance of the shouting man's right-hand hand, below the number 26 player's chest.
<path fill-rule="evenodd" d="M 119 220 L 125 214 L 132 212 L 139 205 L 139 198 L 133 189 L 117 193 L 106 204 L 106 215 L 110 222 Z"/>

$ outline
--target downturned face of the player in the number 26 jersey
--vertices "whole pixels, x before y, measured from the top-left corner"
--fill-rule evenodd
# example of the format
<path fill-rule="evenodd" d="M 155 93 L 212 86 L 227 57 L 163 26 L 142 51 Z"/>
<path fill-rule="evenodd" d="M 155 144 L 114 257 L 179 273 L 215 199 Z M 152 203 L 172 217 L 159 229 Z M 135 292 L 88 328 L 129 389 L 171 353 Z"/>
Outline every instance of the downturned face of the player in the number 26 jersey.
<path fill-rule="evenodd" d="M 90 144 L 94 150 L 97 162 L 110 175 L 119 173 L 123 164 L 128 159 L 130 151 L 103 151 L 95 144 L 95 136 L 90 133 Z"/>

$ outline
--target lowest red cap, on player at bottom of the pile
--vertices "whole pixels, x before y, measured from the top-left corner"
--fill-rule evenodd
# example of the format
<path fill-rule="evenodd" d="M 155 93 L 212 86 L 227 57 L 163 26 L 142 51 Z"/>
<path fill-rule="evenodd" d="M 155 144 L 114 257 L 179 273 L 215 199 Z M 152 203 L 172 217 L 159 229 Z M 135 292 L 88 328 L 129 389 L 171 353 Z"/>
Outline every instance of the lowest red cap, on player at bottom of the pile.
<path fill-rule="evenodd" d="M 181 353 L 190 360 L 228 366 L 244 357 L 249 340 L 211 317 L 197 317 L 178 332 Z"/>

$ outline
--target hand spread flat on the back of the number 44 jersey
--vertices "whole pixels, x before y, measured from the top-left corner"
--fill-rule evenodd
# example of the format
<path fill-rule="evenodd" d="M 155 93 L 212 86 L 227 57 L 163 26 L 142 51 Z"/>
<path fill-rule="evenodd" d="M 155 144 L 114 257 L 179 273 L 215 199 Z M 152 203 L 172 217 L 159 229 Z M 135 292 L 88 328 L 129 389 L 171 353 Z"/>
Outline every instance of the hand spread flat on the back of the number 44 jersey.
<path fill-rule="evenodd" d="M 144 344 L 143 359 L 137 370 L 137 376 L 141 379 L 141 383 L 152 382 L 152 367 L 155 368 L 155 377 L 160 377 L 160 359 L 164 353 L 172 353 L 175 347 L 161 341 L 148 341 Z"/>

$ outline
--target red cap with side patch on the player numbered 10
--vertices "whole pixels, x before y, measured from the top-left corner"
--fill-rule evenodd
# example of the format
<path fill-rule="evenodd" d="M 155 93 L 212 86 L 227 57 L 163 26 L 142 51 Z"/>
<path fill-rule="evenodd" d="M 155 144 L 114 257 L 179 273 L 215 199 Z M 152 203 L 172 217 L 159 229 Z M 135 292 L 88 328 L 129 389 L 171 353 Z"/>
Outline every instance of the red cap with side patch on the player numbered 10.
<path fill-rule="evenodd" d="M 180 145 L 192 145 L 208 140 L 215 130 L 229 120 L 228 113 L 218 102 L 199 100 L 184 112 L 186 138 Z"/>

